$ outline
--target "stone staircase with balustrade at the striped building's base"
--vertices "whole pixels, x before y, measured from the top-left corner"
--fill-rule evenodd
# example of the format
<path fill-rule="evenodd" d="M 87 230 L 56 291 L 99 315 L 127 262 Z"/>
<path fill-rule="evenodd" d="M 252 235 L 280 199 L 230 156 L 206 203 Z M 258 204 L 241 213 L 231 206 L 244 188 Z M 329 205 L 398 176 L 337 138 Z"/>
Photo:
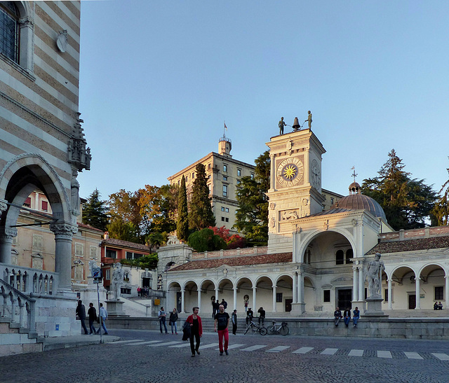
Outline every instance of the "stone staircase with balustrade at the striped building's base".
<path fill-rule="evenodd" d="M 34 321 L 35 300 L 0 279 L 0 356 L 42 351 Z M 30 294 L 32 295 L 32 294 Z"/>

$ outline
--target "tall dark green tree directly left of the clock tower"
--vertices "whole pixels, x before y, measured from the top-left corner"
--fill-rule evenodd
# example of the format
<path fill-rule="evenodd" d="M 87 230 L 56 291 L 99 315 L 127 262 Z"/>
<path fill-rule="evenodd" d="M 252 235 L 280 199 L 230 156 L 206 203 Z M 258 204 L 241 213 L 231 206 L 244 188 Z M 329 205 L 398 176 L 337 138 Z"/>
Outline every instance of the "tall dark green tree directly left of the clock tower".
<path fill-rule="evenodd" d="M 239 208 L 236 211 L 234 228 L 243 232 L 248 244 L 262 246 L 268 242 L 268 201 L 267 193 L 270 178 L 269 151 L 255 159 L 255 178 L 241 178 L 236 198 Z"/>

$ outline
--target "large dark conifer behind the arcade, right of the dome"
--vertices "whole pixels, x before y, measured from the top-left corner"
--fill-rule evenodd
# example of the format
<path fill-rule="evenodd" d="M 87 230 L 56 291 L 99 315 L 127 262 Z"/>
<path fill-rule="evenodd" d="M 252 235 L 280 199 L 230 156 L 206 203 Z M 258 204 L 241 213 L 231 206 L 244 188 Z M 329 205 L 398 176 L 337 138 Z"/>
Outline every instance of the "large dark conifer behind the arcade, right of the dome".
<path fill-rule="evenodd" d="M 410 178 L 394 149 L 388 156 L 379 176 L 363 180 L 362 193 L 379 202 L 394 230 L 423 228 L 431 218 L 437 195 L 424 179 Z"/>

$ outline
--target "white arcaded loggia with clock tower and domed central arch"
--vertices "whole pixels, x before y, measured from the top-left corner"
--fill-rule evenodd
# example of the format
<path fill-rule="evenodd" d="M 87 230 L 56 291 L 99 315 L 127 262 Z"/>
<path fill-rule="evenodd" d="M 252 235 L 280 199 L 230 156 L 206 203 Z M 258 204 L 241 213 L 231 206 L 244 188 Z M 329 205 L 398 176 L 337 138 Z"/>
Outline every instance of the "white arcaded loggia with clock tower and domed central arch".
<path fill-rule="evenodd" d="M 262 306 L 267 316 L 332 317 L 337 306 L 357 306 L 362 315 L 431 309 L 435 300 L 446 306 L 448 228 L 394 232 L 380 204 L 355 181 L 345 197 L 321 188 L 326 151 L 309 129 L 267 145 L 268 246 L 204 253 L 183 244 L 162 247 L 158 269 L 168 307 L 190 312 L 199 306 L 207 315 L 211 300 L 224 298 L 239 312 Z M 376 252 L 384 270 L 372 310 L 366 275 Z"/>

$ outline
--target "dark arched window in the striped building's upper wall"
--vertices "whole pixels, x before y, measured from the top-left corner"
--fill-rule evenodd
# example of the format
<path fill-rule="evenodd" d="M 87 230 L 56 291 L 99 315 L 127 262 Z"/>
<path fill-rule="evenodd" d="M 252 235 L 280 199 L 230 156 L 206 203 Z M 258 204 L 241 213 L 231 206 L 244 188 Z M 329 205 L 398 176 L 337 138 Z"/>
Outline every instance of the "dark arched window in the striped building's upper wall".
<path fill-rule="evenodd" d="M 0 52 L 19 62 L 19 12 L 13 1 L 0 1 Z"/>

